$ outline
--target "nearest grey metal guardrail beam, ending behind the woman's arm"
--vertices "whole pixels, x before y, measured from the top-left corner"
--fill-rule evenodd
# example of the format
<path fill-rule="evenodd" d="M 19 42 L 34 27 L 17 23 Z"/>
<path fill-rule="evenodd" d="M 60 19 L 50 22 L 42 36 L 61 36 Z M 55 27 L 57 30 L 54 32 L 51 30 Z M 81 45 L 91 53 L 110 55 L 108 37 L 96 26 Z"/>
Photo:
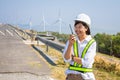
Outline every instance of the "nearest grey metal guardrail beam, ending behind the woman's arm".
<path fill-rule="evenodd" d="M 47 46 L 50 46 L 60 52 L 63 52 L 63 49 L 65 47 L 64 44 L 60 44 L 60 43 L 56 43 L 56 42 L 53 42 L 53 41 L 50 41 L 50 40 L 46 40 L 44 38 L 41 38 L 40 36 L 36 36 L 36 39 L 45 43 Z"/>

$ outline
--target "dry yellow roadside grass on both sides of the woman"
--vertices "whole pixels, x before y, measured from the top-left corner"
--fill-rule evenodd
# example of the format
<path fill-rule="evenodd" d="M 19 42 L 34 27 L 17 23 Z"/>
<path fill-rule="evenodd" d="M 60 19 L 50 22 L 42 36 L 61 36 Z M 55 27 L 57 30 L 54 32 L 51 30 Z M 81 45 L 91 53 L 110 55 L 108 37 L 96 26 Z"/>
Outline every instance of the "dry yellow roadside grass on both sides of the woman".
<path fill-rule="evenodd" d="M 46 46 L 40 46 L 45 53 L 52 56 L 57 66 L 51 66 L 52 76 L 57 80 L 65 80 L 65 70 L 68 64 L 63 61 L 62 53 L 50 48 L 46 52 Z M 94 63 L 94 71 L 96 80 L 120 80 L 120 59 L 97 53 Z"/>

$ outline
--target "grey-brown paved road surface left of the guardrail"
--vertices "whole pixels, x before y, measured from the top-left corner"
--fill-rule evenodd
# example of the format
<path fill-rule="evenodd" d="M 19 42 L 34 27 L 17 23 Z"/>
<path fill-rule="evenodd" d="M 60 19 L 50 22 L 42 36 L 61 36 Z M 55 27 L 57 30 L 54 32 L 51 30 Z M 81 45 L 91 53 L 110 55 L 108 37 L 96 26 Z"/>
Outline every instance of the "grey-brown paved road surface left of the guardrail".
<path fill-rule="evenodd" d="M 17 77 L 14 78 L 16 75 Z M 7 24 L 0 25 L 0 80 L 19 80 L 18 75 L 21 78 L 36 75 L 39 76 L 38 80 L 53 80 L 48 79 L 50 75 L 48 65 L 30 46 L 23 43 L 14 28 Z M 7 76 L 8 79 L 5 78 Z"/>

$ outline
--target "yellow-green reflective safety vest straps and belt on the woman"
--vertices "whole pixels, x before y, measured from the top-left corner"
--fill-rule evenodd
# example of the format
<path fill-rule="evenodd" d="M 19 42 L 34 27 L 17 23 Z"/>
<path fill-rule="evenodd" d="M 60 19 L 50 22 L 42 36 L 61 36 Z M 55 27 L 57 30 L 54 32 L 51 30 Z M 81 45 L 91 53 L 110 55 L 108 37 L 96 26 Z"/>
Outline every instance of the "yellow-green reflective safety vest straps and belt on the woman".
<path fill-rule="evenodd" d="M 89 47 L 91 46 L 91 44 L 95 42 L 94 39 L 91 39 L 87 45 L 85 46 L 83 52 L 82 52 L 82 55 L 81 55 L 81 58 L 84 58 L 87 50 L 89 49 Z M 78 54 L 78 42 L 76 41 L 74 44 L 73 44 L 73 49 L 74 49 L 74 56 L 75 57 L 78 57 L 79 54 Z M 70 70 L 75 70 L 75 71 L 79 71 L 79 72 L 92 72 L 92 69 L 91 68 L 83 68 L 81 64 L 78 64 L 76 62 L 74 62 L 74 65 L 70 65 L 69 66 L 69 69 Z"/>

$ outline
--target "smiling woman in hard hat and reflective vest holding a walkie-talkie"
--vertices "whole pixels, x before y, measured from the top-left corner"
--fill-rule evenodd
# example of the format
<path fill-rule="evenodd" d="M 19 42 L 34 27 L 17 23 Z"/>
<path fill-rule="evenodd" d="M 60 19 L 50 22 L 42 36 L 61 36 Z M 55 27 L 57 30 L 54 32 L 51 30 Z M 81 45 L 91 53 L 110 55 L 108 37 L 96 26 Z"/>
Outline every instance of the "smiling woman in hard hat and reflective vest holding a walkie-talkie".
<path fill-rule="evenodd" d="M 76 35 L 70 35 L 63 58 L 70 66 L 66 70 L 66 80 L 95 80 L 92 65 L 96 55 L 96 42 L 90 35 L 90 17 L 79 14 L 75 19 Z"/>

